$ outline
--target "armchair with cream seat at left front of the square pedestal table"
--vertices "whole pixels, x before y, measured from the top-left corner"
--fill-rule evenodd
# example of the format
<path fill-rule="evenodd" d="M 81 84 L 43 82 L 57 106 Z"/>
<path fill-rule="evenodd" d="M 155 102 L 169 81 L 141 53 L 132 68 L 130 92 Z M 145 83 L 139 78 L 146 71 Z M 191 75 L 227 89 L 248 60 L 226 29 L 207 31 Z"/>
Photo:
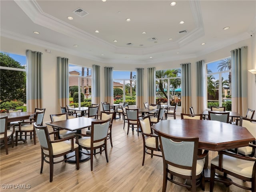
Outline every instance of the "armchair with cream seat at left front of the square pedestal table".
<path fill-rule="evenodd" d="M 50 182 L 52 182 L 53 165 L 66 162 L 66 160 L 72 157 L 76 158 L 76 169 L 79 170 L 78 144 L 74 143 L 74 137 L 51 141 L 50 134 L 54 134 L 54 132 L 49 133 L 47 126 L 38 126 L 36 123 L 34 123 L 33 126 L 41 146 L 40 174 L 43 172 L 44 162 L 50 164 Z M 71 152 L 75 152 L 75 154 L 67 157 L 67 154 Z M 59 159 L 61 156 L 64 156 L 62 160 Z M 54 158 L 58 159 L 55 161 Z"/>

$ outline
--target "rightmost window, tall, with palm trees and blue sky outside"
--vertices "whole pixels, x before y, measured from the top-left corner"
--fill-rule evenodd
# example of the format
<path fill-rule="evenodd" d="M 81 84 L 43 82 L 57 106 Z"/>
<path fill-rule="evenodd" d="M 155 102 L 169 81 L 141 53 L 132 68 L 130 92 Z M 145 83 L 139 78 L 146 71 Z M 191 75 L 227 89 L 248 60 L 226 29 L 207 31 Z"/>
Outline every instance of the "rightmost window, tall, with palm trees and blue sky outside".
<path fill-rule="evenodd" d="M 208 63 L 207 69 L 207 108 L 225 106 L 231 111 L 231 64 L 230 57 Z"/>

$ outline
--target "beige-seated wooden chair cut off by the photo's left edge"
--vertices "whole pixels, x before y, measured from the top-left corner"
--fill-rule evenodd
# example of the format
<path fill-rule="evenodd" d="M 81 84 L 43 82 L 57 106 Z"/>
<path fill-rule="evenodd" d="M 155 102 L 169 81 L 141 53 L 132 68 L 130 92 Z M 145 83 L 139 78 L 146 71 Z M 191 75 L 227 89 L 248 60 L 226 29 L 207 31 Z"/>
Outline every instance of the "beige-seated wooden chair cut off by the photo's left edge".
<path fill-rule="evenodd" d="M 15 126 L 11 126 L 12 129 L 8 129 L 8 117 L 0 117 L 0 140 L 3 141 L 6 155 L 8 155 L 8 143 L 12 143 L 14 147 L 13 134 L 15 132 Z"/>

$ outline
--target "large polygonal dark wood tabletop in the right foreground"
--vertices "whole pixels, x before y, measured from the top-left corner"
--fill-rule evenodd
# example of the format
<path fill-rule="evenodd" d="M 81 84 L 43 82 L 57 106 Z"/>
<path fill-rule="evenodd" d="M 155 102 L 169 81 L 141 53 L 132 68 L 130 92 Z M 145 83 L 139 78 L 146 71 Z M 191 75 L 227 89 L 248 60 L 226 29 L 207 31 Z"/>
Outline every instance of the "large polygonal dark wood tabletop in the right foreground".
<path fill-rule="evenodd" d="M 248 146 L 255 140 L 245 128 L 214 120 L 175 119 L 162 120 L 151 126 L 156 134 L 176 137 L 199 137 L 198 148 L 220 151 Z"/>

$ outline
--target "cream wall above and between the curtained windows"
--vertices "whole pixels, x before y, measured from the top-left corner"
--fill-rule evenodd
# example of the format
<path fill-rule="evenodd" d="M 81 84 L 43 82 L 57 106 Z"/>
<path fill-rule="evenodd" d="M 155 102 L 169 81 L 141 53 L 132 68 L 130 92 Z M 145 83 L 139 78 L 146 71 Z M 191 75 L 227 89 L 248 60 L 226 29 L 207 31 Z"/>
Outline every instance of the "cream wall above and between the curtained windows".
<path fill-rule="evenodd" d="M 46 108 L 46 114 L 44 116 L 44 122 L 50 121 L 50 114 L 60 112 L 57 108 L 57 86 L 56 86 L 56 64 L 57 57 L 69 58 L 70 64 L 92 67 L 93 64 L 97 64 L 100 67 L 100 84 L 101 84 L 101 101 L 104 101 L 104 67 L 112 66 L 114 70 L 136 70 L 136 68 L 144 68 L 144 100 L 148 100 L 147 96 L 147 68 L 156 67 L 156 70 L 164 70 L 170 68 L 179 68 L 180 64 L 190 62 L 192 64 L 192 77 L 195 74 L 196 61 L 205 60 L 206 63 L 215 60 L 220 60 L 230 56 L 230 50 L 239 48 L 242 46 L 248 46 L 248 69 L 256 68 L 256 37 L 253 36 L 242 42 L 234 43 L 232 46 L 227 46 L 220 50 L 216 50 L 212 53 L 197 58 L 191 58 L 186 60 L 176 60 L 170 62 L 162 62 L 157 64 L 142 64 L 142 65 L 127 65 L 127 64 L 108 64 L 100 63 L 86 58 L 81 58 L 64 52 L 51 50 L 51 53 L 45 52 L 44 47 L 35 46 L 33 44 L 24 43 L 17 40 L 1 37 L 0 50 L 2 52 L 9 52 L 12 54 L 26 55 L 26 50 L 40 51 L 43 53 L 42 66 L 43 66 L 43 107 Z M 256 83 L 254 75 L 248 72 L 248 108 L 256 109 L 255 101 Z M 192 100 L 196 98 L 196 78 L 192 78 Z M 194 107 L 194 106 L 193 106 Z M 195 106 L 196 110 L 196 106 Z M 178 109 L 180 112 L 180 109 Z"/>

